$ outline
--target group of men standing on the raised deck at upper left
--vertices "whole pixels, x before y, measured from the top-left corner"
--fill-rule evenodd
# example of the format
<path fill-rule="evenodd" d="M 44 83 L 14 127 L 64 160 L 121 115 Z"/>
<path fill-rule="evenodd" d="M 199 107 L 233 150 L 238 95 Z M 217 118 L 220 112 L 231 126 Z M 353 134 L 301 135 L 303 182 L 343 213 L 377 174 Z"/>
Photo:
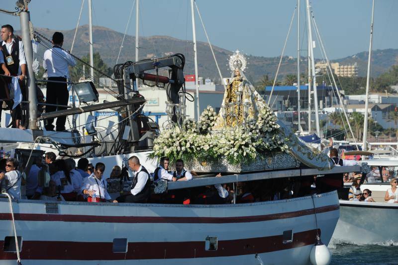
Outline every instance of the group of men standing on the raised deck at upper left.
<path fill-rule="evenodd" d="M 28 127 L 27 105 L 28 91 L 26 89 L 26 76 L 28 74 L 25 52 L 20 36 L 14 35 L 11 25 L 1 26 L 0 45 L 0 119 L 1 110 L 9 110 L 11 114 L 11 128 L 26 129 Z M 48 77 L 46 92 L 46 112 L 65 110 L 69 101 L 67 81 L 69 79 L 69 66 L 75 66 L 75 59 L 62 49 L 64 35 L 55 32 L 52 36 L 53 47 L 44 52 L 43 68 Z M 19 88 L 16 89 L 16 87 Z M 19 92 L 20 91 L 20 92 Z M 38 97 L 41 92 L 38 91 Z M 65 107 L 63 107 L 65 106 Z M 58 117 L 56 127 L 54 119 L 45 121 L 47 131 L 65 131 L 66 116 Z"/>

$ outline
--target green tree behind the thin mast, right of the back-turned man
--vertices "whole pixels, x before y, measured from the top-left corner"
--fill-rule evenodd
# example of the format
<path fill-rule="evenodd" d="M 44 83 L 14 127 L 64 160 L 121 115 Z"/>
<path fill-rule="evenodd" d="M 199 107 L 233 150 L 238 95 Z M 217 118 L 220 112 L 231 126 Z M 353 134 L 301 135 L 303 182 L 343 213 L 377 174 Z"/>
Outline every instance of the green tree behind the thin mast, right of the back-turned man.
<path fill-rule="evenodd" d="M 86 63 L 90 62 L 90 55 L 86 55 L 83 58 L 81 58 L 83 61 Z M 93 54 L 94 57 L 94 67 L 99 69 L 101 72 L 105 73 L 106 75 L 110 76 L 112 74 L 112 68 L 108 67 L 104 61 L 101 59 L 100 53 L 95 52 Z M 76 62 L 76 66 L 70 67 L 70 76 L 73 82 L 78 82 L 79 78 L 83 77 L 83 63 L 80 61 Z M 85 79 L 90 79 L 90 67 L 85 66 Z M 100 77 L 104 77 L 102 74 L 100 74 L 98 71 L 94 70 L 94 84 L 96 87 L 100 85 Z"/>

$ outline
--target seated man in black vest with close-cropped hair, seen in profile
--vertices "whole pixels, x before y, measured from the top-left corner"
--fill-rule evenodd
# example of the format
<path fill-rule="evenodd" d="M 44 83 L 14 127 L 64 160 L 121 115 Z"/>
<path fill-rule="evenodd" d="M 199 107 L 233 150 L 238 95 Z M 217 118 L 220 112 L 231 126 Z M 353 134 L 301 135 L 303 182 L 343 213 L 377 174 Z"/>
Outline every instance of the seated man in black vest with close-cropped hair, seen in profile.
<path fill-rule="evenodd" d="M 135 155 L 128 159 L 128 166 L 135 172 L 133 183 L 131 183 L 131 190 L 127 193 L 121 193 L 113 202 L 145 203 L 151 196 L 149 173 L 140 164 L 140 160 Z"/>

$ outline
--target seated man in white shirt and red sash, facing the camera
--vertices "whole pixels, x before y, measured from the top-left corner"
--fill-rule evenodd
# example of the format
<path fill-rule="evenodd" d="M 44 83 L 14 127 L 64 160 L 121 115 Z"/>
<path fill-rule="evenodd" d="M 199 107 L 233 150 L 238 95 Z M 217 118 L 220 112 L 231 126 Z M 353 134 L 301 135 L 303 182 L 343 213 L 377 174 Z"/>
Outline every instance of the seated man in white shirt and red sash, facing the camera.
<path fill-rule="evenodd" d="M 106 202 L 110 201 L 110 195 L 107 191 L 107 182 L 102 178 L 105 165 L 101 162 L 96 164 L 93 174 L 85 178 L 82 185 L 82 192 L 88 196 L 88 202 Z"/>

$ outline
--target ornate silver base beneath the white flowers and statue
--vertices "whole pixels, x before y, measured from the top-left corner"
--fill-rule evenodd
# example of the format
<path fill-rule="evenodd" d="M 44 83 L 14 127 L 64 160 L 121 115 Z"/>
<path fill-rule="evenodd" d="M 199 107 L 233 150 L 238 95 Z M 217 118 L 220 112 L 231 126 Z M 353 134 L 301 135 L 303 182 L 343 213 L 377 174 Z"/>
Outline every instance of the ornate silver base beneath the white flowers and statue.
<path fill-rule="evenodd" d="M 196 172 L 250 172 L 298 167 L 300 162 L 291 154 L 285 152 L 269 152 L 264 157 L 257 157 L 250 164 L 231 165 L 225 157 L 218 163 L 206 161 L 186 161 L 185 168 Z"/>

